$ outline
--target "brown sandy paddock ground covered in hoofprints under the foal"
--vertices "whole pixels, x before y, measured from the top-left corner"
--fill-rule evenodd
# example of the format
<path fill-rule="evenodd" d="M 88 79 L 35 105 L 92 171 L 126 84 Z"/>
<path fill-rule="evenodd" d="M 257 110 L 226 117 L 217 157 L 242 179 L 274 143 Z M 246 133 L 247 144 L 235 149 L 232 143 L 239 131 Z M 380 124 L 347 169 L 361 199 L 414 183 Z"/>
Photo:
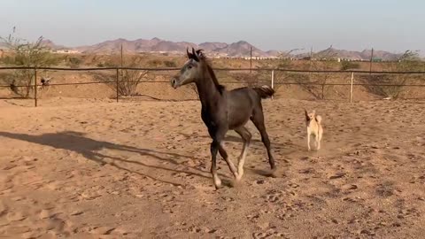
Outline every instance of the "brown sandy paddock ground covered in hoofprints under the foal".
<path fill-rule="evenodd" d="M 243 181 L 219 160 L 220 190 L 199 102 L 53 103 L 0 103 L 1 238 L 425 234 L 423 101 L 266 100 L 277 177 L 250 122 Z M 304 107 L 323 117 L 318 152 Z M 236 133 L 226 145 L 236 161 Z"/>

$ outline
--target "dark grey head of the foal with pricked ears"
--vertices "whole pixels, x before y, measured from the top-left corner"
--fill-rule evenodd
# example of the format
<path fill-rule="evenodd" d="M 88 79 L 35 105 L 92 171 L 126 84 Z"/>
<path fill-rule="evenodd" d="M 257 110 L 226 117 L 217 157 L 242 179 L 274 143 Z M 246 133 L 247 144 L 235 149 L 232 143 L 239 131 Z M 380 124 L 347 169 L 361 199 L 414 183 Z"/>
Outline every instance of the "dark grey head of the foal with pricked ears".
<path fill-rule="evenodd" d="M 174 89 L 181 87 L 192 82 L 197 82 L 205 68 L 202 67 L 202 64 L 205 63 L 205 56 L 201 50 L 195 50 L 192 48 L 192 52 L 186 50 L 188 53 L 189 60 L 184 64 L 180 73 L 175 75 L 171 79 L 171 86 Z"/>

